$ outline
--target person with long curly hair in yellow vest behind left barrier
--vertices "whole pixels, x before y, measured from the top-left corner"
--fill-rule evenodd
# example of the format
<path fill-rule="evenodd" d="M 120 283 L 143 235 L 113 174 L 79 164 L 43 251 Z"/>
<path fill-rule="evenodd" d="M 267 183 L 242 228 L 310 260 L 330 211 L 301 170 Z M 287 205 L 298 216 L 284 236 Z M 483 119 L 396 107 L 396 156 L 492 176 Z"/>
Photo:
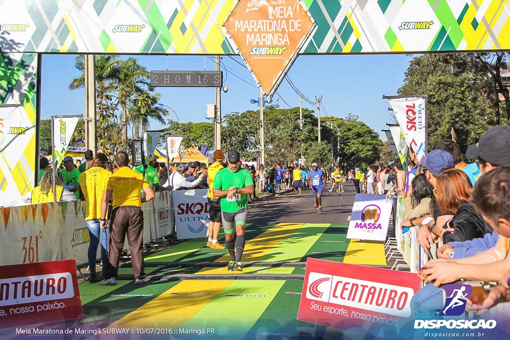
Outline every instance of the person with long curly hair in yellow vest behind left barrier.
<path fill-rule="evenodd" d="M 57 187 L 57 202 L 58 201 L 74 201 L 76 196 L 73 193 L 65 190 L 63 187 L 64 180 L 60 172 L 55 173 L 55 183 Z M 42 175 L 39 185 L 34 188 L 27 195 L 22 198 L 25 204 L 39 204 L 55 202 L 53 195 L 53 169 L 48 169 Z"/>

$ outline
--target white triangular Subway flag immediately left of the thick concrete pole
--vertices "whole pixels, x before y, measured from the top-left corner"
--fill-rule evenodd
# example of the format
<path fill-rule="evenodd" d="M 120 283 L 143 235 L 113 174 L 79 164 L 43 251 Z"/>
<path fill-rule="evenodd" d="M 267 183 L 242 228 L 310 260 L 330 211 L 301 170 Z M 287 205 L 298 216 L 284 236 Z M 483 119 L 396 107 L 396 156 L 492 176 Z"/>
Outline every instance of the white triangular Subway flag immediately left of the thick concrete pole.
<path fill-rule="evenodd" d="M 81 116 L 52 116 L 53 168 L 58 169 L 64 159 L 74 128 Z"/>

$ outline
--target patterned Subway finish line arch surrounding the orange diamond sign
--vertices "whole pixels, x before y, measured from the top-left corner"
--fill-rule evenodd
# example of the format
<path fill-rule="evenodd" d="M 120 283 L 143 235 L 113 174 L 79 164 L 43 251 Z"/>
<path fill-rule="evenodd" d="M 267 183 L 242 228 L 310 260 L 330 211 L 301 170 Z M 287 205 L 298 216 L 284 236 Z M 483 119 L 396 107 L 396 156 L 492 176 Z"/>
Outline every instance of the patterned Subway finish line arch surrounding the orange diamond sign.
<path fill-rule="evenodd" d="M 295 2 L 295 0 L 293 0 Z M 267 0 L 271 6 L 290 0 Z M 20 2 L 0 4 L 0 185 L 3 197 L 33 189 L 38 155 L 40 54 L 239 55 L 223 24 L 247 0 Z M 300 2 L 316 27 L 297 55 L 510 49 L 510 12 L 500 1 Z M 264 7 L 257 11 L 265 10 Z M 273 13 L 277 15 L 277 13 Z M 292 60 L 288 67 L 292 65 Z M 28 130 L 10 134 L 12 104 Z M 23 137 L 20 137 L 23 136 Z M 26 146 L 7 148 L 4 140 Z M 2 202 L 0 202 L 1 204 Z"/>

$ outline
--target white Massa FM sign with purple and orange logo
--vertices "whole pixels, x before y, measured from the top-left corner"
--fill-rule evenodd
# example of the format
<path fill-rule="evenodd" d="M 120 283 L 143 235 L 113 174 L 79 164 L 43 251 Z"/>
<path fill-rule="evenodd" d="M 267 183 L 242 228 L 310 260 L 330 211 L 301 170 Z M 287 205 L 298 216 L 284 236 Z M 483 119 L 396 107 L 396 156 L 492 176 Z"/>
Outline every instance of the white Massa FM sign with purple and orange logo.
<path fill-rule="evenodd" d="M 385 241 L 392 207 L 384 195 L 356 194 L 347 239 Z"/>

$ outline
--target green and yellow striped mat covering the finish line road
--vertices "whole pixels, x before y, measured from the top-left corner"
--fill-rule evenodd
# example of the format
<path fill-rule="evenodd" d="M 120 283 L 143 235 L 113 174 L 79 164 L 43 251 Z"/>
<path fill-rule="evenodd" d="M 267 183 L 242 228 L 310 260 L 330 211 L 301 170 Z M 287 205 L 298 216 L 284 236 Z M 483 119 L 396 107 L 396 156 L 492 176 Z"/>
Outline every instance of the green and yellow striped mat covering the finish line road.
<path fill-rule="evenodd" d="M 347 241 L 347 225 L 279 223 L 246 229 L 243 255 L 246 262 L 302 263 L 313 257 L 386 265 L 383 245 Z M 185 337 L 189 335 L 187 330 L 207 332 L 208 329 L 209 334 L 203 336 L 265 338 L 299 333 L 313 338 L 326 330 L 296 320 L 302 280 L 236 280 L 234 276 L 239 272 L 228 272 L 220 265 L 228 261 L 227 251 L 210 249 L 205 246 L 206 241 L 189 240 L 145 258 L 145 271 L 149 275 L 194 274 L 198 279 L 154 280 L 144 285 L 136 285 L 134 280 L 118 280 L 115 286 L 80 284 L 86 315 L 83 323 L 87 327 L 161 328 L 166 332 L 161 335 L 166 338 L 168 332 Z M 180 262 L 214 265 L 180 267 L 175 264 Z M 119 274 L 130 273 L 131 268 L 119 270 Z M 199 279 L 200 275 L 212 274 L 233 275 L 233 279 Z M 304 274 L 304 268 L 268 264 L 246 267 L 243 274 Z"/>

